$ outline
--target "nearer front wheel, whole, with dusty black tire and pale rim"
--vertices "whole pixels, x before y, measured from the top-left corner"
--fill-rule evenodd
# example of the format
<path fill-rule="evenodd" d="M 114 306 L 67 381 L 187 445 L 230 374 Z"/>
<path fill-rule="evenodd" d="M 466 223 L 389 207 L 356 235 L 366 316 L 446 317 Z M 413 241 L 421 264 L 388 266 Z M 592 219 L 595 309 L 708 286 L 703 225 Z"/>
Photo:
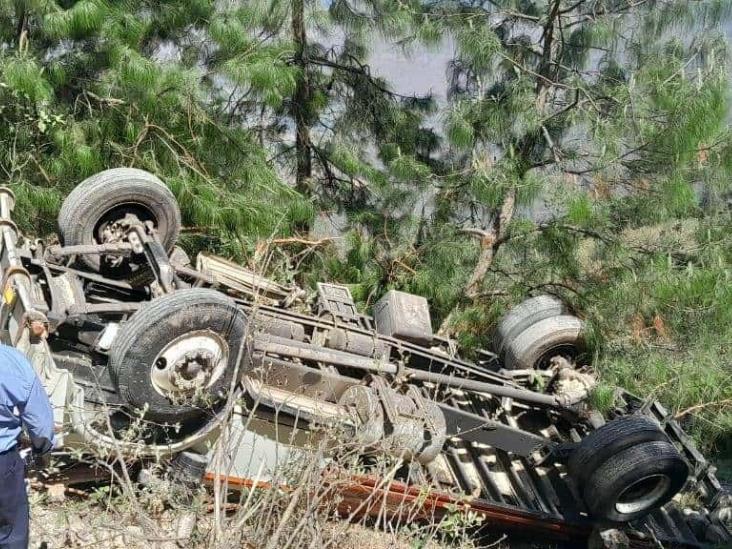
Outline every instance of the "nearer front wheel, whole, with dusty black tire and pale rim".
<path fill-rule="evenodd" d="M 128 407 L 146 421 L 205 420 L 226 401 L 246 337 L 247 318 L 233 300 L 209 289 L 179 290 L 121 325 L 110 374 Z"/>

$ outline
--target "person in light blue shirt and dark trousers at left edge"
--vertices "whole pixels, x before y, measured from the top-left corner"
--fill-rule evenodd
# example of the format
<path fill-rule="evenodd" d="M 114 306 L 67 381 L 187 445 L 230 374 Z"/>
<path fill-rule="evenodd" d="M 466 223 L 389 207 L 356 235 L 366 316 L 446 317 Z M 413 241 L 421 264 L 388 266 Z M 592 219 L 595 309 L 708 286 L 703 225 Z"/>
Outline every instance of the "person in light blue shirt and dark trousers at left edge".
<path fill-rule="evenodd" d="M 35 455 L 54 444 L 53 410 L 28 359 L 0 345 L 0 548 L 28 547 L 28 495 L 25 461 L 18 438 L 25 427 Z"/>

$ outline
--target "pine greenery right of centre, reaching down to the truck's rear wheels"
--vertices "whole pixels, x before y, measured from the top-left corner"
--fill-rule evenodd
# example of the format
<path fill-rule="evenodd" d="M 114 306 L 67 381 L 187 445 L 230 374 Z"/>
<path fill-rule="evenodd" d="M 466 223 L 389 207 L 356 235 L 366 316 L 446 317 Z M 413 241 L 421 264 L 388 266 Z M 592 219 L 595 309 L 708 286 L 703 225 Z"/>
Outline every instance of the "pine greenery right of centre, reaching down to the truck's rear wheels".
<path fill-rule="evenodd" d="M 554 293 L 604 382 L 660 396 L 705 444 L 732 428 L 727 2 L 438 2 L 454 40 L 434 213 L 399 283 L 486 341 Z M 680 38 L 682 37 L 682 38 Z M 473 236 L 479 237 L 479 244 Z M 600 335 L 602 334 L 602 336 Z M 713 335 L 714 334 L 714 335 Z"/>

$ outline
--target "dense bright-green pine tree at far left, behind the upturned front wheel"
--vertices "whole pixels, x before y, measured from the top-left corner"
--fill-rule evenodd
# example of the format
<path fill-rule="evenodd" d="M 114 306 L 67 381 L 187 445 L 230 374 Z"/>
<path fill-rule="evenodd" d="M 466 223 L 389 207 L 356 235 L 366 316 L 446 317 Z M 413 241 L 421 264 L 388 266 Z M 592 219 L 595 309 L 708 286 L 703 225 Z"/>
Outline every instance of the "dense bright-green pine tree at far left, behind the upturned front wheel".
<path fill-rule="evenodd" d="M 65 193 L 116 166 L 166 181 L 200 246 L 234 251 L 237 236 L 287 234 L 312 216 L 222 108 L 208 62 L 216 12 L 199 0 L 0 2 L 0 170 L 26 227 L 53 229 Z M 278 54 L 261 48 L 257 62 Z"/>

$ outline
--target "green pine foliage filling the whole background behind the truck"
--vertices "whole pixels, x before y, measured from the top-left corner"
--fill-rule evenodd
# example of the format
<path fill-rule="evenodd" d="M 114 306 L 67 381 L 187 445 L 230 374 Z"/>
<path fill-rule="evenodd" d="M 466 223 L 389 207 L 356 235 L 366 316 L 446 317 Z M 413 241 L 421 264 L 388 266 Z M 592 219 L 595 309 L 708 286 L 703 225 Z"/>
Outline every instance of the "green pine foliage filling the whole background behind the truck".
<path fill-rule="evenodd" d="M 275 274 L 346 283 L 363 310 L 424 295 L 467 353 L 509 305 L 560 295 L 592 326 L 598 408 L 616 384 L 656 395 L 714 445 L 732 425 L 730 16 L 721 0 L 0 0 L 0 173 L 23 228 L 48 233 L 81 179 L 148 169 L 190 251 L 239 259 L 335 216 L 344 238 L 278 250 Z M 444 104 L 374 74 L 376 39 L 454 47 Z"/>

